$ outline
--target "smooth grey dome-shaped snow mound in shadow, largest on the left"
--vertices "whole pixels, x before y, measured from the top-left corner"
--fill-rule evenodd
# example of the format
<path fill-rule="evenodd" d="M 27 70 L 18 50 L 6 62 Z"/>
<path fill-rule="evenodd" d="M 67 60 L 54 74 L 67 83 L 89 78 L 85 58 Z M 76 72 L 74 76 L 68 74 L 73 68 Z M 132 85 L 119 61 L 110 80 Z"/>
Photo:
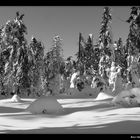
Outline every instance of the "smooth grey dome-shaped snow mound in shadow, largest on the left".
<path fill-rule="evenodd" d="M 60 114 L 64 111 L 61 104 L 53 97 L 41 97 L 32 102 L 25 110 L 33 114 Z"/>

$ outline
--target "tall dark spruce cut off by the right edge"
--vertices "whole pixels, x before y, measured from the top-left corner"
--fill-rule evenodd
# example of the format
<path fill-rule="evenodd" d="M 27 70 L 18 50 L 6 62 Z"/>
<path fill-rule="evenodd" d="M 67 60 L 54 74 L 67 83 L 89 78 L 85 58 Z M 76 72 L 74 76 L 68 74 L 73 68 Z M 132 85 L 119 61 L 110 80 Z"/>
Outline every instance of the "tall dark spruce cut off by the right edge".
<path fill-rule="evenodd" d="M 140 65 L 138 62 L 140 55 L 140 7 L 131 8 L 130 17 L 128 18 L 127 22 L 130 24 L 129 34 L 126 41 L 128 54 L 127 82 L 130 83 L 132 87 L 137 87 L 140 86 L 140 75 L 138 72 L 138 65 Z"/>

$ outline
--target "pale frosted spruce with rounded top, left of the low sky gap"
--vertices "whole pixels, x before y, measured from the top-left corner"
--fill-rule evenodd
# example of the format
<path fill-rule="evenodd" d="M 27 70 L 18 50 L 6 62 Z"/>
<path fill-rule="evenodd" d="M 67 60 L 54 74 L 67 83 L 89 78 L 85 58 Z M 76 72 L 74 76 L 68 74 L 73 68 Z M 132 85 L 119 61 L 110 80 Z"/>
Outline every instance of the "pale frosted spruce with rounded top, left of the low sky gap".
<path fill-rule="evenodd" d="M 60 93 L 64 64 L 62 39 L 57 35 L 53 38 L 53 45 L 45 55 L 46 84 L 52 95 Z"/>

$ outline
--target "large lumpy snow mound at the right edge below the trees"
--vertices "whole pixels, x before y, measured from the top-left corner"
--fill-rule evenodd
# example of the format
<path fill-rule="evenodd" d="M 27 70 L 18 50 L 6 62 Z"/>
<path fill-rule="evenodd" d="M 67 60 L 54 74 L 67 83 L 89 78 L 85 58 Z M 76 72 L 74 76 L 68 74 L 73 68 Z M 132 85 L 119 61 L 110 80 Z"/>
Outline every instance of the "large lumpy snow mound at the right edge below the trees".
<path fill-rule="evenodd" d="M 140 106 L 140 88 L 124 90 L 112 100 L 114 105 L 122 107 Z"/>

